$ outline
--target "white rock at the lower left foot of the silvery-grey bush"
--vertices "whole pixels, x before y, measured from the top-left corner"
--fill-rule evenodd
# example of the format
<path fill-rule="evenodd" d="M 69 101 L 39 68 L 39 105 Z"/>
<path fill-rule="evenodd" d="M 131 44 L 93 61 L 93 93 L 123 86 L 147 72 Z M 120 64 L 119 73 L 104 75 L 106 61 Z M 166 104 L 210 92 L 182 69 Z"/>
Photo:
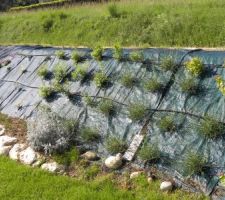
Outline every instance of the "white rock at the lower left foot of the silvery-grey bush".
<path fill-rule="evenodd" d="M 25 150 L 20 152 L 19 158 L 22 163 L 31 165 L 36 161 L 37 155 L 31 147 L 27 147 Z"/>

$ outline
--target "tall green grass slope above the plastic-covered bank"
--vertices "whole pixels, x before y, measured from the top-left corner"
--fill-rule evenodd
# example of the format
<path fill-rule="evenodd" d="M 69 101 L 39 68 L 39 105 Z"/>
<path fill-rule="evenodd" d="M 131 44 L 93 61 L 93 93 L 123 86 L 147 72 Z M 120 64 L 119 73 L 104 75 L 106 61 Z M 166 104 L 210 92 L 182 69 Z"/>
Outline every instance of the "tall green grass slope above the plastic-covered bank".
<path fill-rule="evenodd" d="M 0 44 L 225 46 L 224 0 L 121 1 L 110 12 L 109 5 L 0 14 Z"/>

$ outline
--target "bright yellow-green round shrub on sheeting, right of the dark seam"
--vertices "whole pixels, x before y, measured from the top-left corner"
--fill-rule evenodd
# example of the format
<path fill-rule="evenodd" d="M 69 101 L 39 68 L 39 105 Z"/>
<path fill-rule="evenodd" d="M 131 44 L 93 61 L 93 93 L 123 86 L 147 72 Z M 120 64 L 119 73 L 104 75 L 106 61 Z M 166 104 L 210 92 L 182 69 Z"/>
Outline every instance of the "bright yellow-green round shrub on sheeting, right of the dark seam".
<path fill-rule="evenodd" d="M 194 76 L 200 76 L 204 70 L 203 62 L 198 57 L 194 57 L 190 61 L 187 61 L 185 67 Z"/>

